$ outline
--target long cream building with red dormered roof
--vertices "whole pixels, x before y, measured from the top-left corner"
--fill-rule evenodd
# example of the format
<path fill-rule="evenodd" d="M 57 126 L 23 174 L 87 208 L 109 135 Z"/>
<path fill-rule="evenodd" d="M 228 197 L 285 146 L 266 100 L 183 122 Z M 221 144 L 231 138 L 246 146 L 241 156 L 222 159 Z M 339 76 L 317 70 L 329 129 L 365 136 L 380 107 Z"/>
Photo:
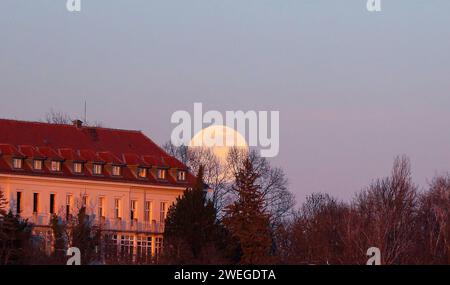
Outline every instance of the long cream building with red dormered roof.
<path fill-rule="evenodd" d="M 47 241 L 52 214 L 85 206 L 117 245 L 158 254 L 167 210 L 194 180 L 140 131 L 0 119 L 0 190 Z"/>

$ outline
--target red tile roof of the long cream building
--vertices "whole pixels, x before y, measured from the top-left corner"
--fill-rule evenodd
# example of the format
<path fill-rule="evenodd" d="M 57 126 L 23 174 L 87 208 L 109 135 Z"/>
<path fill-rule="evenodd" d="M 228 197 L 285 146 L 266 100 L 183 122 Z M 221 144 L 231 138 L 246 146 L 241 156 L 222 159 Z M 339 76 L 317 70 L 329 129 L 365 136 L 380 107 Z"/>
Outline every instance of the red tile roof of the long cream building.
<path fill-rule="evenodd" d="M 11 157 L 122 165 L 122 175 L 113 177 L 105 170 L 100 177 L 89 171 L 77 175 L 68 163 L 63 163 L 60 173 L 52 173 L 46 167 L 42 171 L 34 171 L 26 163 L 22 171 L 15 171 L 7 161 Z M 167 181 L 158 181 L 151 175 L 148 179 L 141 179 L 128 166 L 187 170 L 183 163 L 168 155 L 140 131 L 0 119 L 0 173 L 123 180 L 182 187 L 192 185 L 195 180 L 189 173 L 186 182 L 177 181 L 171 175 L 168 175 Z"/>

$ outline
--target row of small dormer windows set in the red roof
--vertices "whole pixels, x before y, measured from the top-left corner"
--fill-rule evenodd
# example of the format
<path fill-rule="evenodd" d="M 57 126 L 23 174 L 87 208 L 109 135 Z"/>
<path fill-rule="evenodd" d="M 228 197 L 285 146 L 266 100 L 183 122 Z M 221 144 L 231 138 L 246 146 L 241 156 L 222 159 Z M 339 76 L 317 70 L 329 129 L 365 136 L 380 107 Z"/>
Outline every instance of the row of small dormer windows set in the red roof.
<path fill-rule="evenodd" d="M 41 171 L 43 169 L 44 162 L 40 159 L 33 160 L 33 169 L 36 171 Z M 21 158 L 13 158 L 13 167 L 15 169 L 23 168 L 23 159 Z M 51 161 L 50 170 L 53 172 L 61 172 L 61 161 Z M 75 174 L 82 174 L 84 170 L 84 164 L 81 162 L 73 163 L 73 172 Z M 138 167 L 137 176 L 139 178 L 146 179 L 148 178 L 149 169 L 145 167 Z M 94 175 L 102 175 L 103 174 L 103 165 L 94 163 L 92 167 L 92 174 Z M 121 176 L 122 175 L 122 167 L 118 165 L 113 165 L 111 174 L 113 176 Z M 167 169 L 159 168 L 156 177 L 160 180 L 166 180 L 167 177 Z M 186 181 L 186 171 L 178 170 L 177 172 L 177 180 L 178 181 Z"/>

